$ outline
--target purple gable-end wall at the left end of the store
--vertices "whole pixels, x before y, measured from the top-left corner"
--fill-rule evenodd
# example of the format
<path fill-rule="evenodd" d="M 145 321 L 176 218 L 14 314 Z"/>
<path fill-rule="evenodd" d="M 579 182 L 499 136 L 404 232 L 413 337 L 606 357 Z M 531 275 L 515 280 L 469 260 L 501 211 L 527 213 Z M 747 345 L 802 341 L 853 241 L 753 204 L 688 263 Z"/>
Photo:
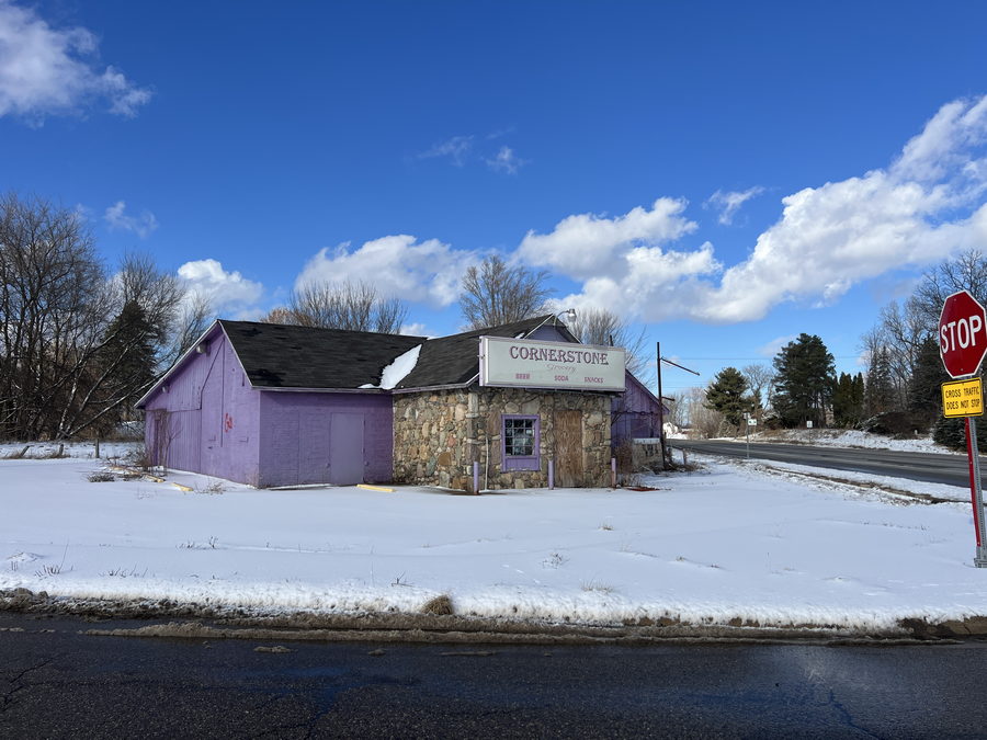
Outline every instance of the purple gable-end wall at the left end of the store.
<path fill-rule="evenodd" d="M 257 485 L 260 394 L 219 327 L 146 402 L 150 462 Z"/>

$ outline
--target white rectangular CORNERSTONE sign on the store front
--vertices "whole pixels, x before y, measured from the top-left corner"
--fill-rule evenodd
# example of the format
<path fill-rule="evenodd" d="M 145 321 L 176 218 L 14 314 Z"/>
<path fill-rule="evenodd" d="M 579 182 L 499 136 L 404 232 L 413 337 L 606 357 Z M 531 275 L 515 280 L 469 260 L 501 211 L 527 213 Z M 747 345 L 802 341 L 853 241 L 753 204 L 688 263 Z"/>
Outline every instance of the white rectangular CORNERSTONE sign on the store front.
<path fill-rule="evenodd" d="M 481 337 L 479 351 L 481 386 L 624 390 L 620 346 Z"/>

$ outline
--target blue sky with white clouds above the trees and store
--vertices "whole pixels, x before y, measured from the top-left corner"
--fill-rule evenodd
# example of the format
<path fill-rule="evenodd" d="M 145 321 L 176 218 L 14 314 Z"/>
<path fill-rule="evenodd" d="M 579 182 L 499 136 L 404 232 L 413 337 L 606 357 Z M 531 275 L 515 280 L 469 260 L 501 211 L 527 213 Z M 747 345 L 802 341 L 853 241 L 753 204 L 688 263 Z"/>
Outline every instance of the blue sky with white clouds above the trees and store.
<path fill-rule="evenodd" d="M 77 207 L 228 318 L 363 278 L 461 328 L 491 252 L 644 327 L 666 392 L 838 368 L 987 248 L 982 2 L 0 0 L 0 190 Z"/>

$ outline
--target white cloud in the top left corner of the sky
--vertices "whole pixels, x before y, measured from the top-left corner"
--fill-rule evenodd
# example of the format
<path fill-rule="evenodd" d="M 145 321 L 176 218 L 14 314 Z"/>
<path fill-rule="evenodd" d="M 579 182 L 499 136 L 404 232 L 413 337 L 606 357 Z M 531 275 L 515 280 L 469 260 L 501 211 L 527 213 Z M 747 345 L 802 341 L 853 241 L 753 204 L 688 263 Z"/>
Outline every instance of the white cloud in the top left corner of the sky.
<path fill-rule="evenodd" d="M 53 29 L 33 9 L 0 0 L 0 116 L 39 123 L 95 100 L 105 101 L 111 113 L 136 115 L 150 91 L 113 67 L 100 69 L 97 46 L 86 29 Z"/>

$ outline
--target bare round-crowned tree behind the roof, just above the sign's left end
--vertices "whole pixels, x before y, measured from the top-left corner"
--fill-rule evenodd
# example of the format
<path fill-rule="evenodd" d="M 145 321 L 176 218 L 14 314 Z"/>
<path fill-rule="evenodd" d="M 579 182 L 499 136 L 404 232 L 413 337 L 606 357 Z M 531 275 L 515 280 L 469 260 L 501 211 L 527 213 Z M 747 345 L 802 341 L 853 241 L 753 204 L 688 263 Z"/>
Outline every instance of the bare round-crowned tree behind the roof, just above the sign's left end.
<path fill-rule="evenodd" d="M 552 289 L 548 273 L 510 266 L 494 254 L 470 265 L 463 276 L 460 310 L 470 329 L 497 327 L 537 316 L 545 310 Z"/>

